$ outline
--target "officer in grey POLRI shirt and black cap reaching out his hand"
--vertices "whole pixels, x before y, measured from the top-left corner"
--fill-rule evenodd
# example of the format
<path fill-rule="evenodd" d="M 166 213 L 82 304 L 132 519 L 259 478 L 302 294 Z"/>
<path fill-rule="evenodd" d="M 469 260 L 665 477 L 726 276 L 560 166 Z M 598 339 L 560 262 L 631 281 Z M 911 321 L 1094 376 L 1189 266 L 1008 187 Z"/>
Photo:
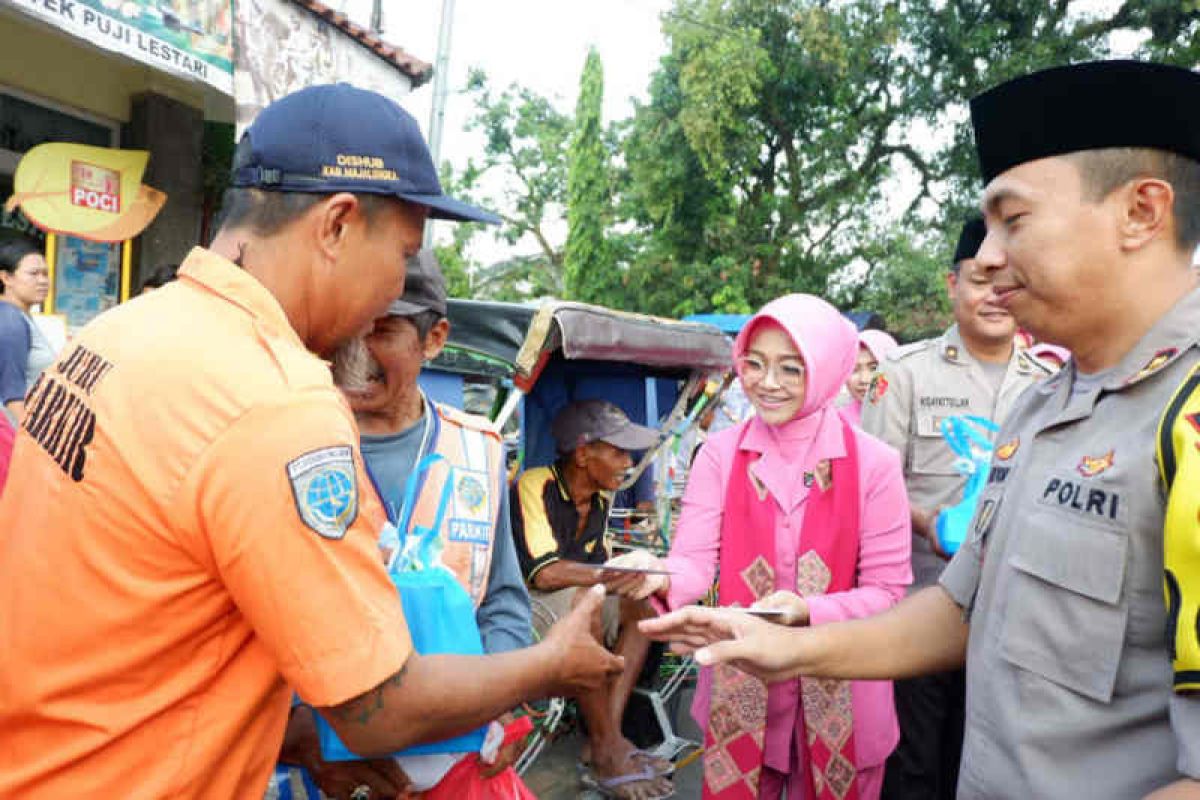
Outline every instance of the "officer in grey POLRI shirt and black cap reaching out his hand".
<path fill-rule="evenodd" d="M 997 302 L 1073 359 L 1002 426 L 940 585 L 850 624 L 706 609 L 643 628 L 768 680 L 965 657 L 967 800 L 1200 798 L 1200 693 L 1172 680 L 1154 464 L 1159 419 L 1200 363 L 1200 76 L 1079 64 L 997 86 L 971 115 L 977 260 Z"/>

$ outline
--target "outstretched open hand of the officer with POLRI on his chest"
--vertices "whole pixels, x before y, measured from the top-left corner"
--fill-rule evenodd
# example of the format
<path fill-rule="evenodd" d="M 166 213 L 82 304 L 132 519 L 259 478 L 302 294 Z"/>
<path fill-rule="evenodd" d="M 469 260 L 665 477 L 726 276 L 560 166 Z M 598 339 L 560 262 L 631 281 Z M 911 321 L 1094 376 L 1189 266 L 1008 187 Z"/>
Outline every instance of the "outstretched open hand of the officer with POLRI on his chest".
<path fill-rule="evenodd" d="M 728 663 L 767 682 L 796 678 L 800 672 L 798 645 L 803 639 L 782 625 L 737 608 L 689 606 L 638 622 L 646 636 L 670 642 L 671 649 L 695 654 L 697 663 Z"/>

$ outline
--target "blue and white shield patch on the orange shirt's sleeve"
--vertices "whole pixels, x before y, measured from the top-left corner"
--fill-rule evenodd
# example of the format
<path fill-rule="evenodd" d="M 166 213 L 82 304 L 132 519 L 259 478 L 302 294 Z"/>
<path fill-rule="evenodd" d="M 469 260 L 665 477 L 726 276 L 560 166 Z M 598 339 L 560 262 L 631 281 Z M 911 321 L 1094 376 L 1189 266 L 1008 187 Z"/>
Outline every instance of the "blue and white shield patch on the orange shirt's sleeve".
<path fill-rule="evenodd" d="M 359 515 L 354 452 L 322 447 L 288 462 L 292 497 L 304 524 L 325 539 L 341 539 Z"/>

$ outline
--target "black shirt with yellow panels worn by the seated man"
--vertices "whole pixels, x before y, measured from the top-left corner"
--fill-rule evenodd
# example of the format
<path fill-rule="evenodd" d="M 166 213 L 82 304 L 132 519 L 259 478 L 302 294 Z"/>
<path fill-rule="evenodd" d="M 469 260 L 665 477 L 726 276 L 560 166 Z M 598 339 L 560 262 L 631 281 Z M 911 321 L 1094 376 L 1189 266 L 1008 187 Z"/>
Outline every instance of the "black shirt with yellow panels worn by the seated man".
<path fill-rule="evenodd" d="M 511 505 L 512 537 L 517 543 L 526 583 L 533 585 L 534 576 L 558 560 L 584 564 L 608 560 L 604 545 L 608 499 L 601 493 L 593 495 L 587 523 L 576 536 L 580 513 L 575 510 L 560 464 L 526 471 L 512 488 Z"/>

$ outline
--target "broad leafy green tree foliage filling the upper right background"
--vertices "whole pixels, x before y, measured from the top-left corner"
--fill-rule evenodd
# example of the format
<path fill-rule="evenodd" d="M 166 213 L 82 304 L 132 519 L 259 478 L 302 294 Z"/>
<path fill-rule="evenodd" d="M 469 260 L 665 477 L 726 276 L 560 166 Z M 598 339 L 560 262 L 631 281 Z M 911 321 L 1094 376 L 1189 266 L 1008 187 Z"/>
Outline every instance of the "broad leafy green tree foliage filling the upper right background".
<path fill-rule="evenodd" d="M 880 311 L 905 337 L 947 321 L 946 266 L 980 190 L 971 96 L 1117 46 L 1200 62 L 1196 0 L 676 0 L 664 32 L 647 101 L 590 139 L 606 150 L 589 163 L 606 166 L 587 185 L 606 192 L 580 263 L 607 248 L 611 267 L 581 271 L 607 284 L 575 296 L 682 315 L 811 291 Z M 574 149 L 599 64 L 581 89 L 577 119 L 552 128 L 576 131 Z M 481 115 L 517 112 L 500 100 Z M 559 198 L 538 206 L 541 223 L 568 205 L 562 169 L 560 193 L 535 196 Z"/>

